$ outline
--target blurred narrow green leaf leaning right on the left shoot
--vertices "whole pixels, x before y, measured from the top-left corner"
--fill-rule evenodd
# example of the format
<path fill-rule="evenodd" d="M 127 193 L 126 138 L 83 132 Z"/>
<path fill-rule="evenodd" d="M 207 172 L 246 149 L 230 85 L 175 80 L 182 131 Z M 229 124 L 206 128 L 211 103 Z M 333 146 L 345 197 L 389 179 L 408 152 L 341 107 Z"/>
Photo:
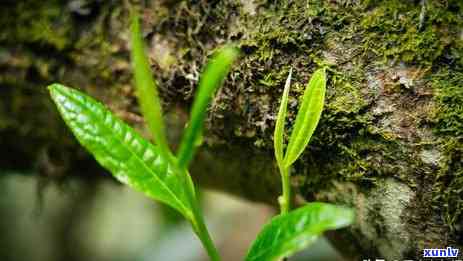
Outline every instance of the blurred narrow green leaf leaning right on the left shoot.
<path fill-rule="evenodd" d="M 178 151 L 178 164 L 180 167 L 186 168 L 193 158 L 196 148 L 195 143 L 202 135 L 207 106 L 238 55 L 239 51 L 235 47 L 225 46 L 217 51 L 212 60 L 206 65 L 191 109 L 190 122 L 180 143 Z"/>

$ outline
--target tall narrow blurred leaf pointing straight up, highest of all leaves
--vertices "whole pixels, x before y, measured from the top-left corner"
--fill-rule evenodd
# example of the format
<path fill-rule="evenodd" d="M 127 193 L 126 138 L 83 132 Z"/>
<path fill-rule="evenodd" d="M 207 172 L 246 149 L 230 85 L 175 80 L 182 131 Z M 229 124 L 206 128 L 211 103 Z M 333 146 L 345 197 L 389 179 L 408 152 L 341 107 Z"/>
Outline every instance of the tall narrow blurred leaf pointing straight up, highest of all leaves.
<path fill-rule="evenodd" d="M 167 143 L 157 84 L 151 72 L 148 56 L 145 53 L 138 15 L 135 11 L 132 12 L 132 24 L 130 28 L 132 38 L 132 62 L 138 102 L 140 103 L 140 109 L 148 128 L 154 137 L 154 142 L 159 145 L 161 156 L 165 159 L 169 159 L 172 153 Z"/>

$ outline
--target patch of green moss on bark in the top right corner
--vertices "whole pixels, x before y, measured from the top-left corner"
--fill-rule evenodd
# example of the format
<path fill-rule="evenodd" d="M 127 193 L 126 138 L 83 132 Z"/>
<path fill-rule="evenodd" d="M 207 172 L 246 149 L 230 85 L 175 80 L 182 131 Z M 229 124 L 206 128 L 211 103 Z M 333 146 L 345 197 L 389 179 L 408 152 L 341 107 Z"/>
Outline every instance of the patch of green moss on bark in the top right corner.
<path fill-rule="evenodd" d="M 443 54 L 454 52 L 461 28 L 461 1 L 392 0 L 370 4 L 361 20 L 366 30 L 365 50 L 385 61 L 432 65 Z M 462 62 L 462 57 L 457 57 Z"/>

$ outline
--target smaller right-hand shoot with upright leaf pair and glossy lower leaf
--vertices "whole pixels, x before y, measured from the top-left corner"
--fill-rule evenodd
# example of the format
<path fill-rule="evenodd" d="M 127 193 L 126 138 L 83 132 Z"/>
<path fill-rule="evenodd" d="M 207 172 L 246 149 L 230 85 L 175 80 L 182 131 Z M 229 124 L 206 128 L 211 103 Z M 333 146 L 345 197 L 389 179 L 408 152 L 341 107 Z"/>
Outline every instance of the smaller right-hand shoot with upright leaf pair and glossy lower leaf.
<path fill-rule="evenodd" d="M 282 183 L 282 195 L 278 199 L 281 213 L 257 236 L 248 251 L 246 261 L 272 261 L 288 257 L 313 243 L 324 231 L 348 226 L 354 219 L 351 209 L 322 202 L 312 202 L 291 211 L 291 166 L 309 144 L 320 120 L 325 99 L 326 75 L 325 69 L 319 69 L 312 75 L 285 150 L 284 128 L 291 77 L 292 69 L 285 83 L 274 132 L 275 158 Z"/>

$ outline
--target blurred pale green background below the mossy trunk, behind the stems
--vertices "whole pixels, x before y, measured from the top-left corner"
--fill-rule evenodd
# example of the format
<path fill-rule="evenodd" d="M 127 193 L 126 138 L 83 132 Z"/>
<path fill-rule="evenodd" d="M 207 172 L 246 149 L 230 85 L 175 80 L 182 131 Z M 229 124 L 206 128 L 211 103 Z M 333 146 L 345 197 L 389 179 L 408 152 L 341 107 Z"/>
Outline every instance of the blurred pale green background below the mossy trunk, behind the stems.
<path fill-rule="evenodd" d="M 171 209 L 108 178 L 56 183 L 34 173 L 0 174 L 2 261 L 205 261 L 200 242 Z M 202 191 L 206 220 L 224 261 L 242 260 L 269 206 Z M 321 239 L 290 259 L 342 260 Z"/>

